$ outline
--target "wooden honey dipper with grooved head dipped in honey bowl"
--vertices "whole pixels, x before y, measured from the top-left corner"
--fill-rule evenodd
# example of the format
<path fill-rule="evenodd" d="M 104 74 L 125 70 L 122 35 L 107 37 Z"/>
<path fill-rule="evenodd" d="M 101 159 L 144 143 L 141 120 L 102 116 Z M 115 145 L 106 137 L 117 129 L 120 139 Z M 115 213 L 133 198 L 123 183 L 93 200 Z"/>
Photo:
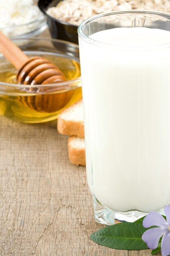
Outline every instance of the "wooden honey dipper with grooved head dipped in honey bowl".
<path fill-rule="evenodd" d="M 64 73 L 49 60 L 40 56 L 29 58 L 0 31 L 0 52 L 18 70 L 17 82 L 23 85 L 45 85 L 67 81 Z M 31 88 L 31 86 L 30 86 Z M 60 90 L 60 88 L 59 88 Z M 22 97 L 24 105 L 40 112 L 55 112 L 70 100 L 73 92 Z M 28 98 L 28 99 L 26 99 Z M 32 102 L 32 103 L 31 103 Z"/>

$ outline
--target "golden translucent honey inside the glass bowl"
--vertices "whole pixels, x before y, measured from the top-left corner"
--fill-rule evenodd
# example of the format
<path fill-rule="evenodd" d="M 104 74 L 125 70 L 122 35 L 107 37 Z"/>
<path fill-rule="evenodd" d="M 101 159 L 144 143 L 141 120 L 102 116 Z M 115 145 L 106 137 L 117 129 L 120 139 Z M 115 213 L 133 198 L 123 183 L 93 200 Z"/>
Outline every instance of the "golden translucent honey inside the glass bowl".
<path fill-rule="evenodd" d="M 63 55 L 41 55 L 62 70 L 69 82 L 55 86 L 25 86 L 16 83 L 17 70 L 6 60 L 0 69 L 0 115 L 25 123 L 51 121 L 82 97 L 80 65 L 75 59 Z M 31 56 L 29 56 L 31 57 Z M 75 81 L 72 81 L 77 79 Z M 6 84 L 6 83 L 9 83 Z M 16 84 L 14 86 L 13 84 Z"/>

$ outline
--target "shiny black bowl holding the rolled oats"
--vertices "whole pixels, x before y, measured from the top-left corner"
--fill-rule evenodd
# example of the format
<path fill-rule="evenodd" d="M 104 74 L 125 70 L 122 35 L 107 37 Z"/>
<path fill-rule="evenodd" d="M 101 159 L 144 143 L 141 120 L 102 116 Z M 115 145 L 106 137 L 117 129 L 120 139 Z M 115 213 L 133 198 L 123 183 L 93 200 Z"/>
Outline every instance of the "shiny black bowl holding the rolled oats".
<path fill-rule="evenodd" d="M 57 20 L 46 13 L 50 7 L 56 6 L 60 0 L 39 0 L 38 7 L 47 17 L 47 24 L 52 38 L 66 40 L 78 44 L 78 26 L 68 22 Z"/>

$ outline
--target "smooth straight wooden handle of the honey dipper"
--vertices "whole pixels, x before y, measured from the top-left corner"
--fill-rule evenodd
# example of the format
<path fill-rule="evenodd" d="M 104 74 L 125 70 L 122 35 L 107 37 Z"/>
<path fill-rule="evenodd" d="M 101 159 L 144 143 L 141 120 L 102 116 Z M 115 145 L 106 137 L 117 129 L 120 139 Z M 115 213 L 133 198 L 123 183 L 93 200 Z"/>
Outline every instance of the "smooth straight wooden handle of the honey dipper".
<path fill-rule="evenodd" d="M 21 49 L 0 31 L 0 52 L 17 70 L 29 59 Z"/>

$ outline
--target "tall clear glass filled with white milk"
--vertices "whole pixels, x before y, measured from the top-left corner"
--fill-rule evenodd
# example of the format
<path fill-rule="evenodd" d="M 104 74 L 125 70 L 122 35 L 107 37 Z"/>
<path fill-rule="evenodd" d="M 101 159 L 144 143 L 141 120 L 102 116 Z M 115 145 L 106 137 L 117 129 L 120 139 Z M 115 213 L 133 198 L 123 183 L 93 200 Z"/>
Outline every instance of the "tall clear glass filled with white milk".
<path fill-rule="evenodd" d="M 78 34 L 95 220 L 162 213 L 170 202 L 170 15 L 99 14 Z"/>

